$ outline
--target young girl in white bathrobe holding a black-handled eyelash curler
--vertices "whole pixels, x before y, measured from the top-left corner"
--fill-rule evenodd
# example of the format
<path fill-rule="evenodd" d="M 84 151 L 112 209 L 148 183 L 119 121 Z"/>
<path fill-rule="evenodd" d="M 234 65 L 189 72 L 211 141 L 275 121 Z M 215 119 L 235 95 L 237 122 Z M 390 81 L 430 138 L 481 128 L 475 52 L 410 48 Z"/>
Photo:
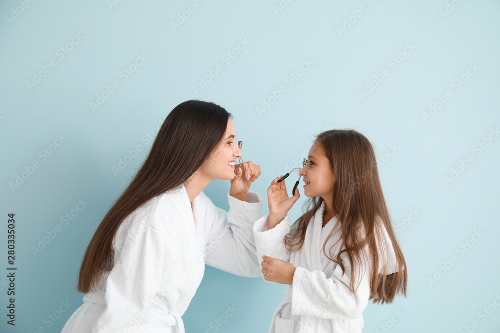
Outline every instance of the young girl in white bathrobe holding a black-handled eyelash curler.
<path fill-rule="evenodd" d="M 265 281 L 290 285 L 269 333 L 358 333 L 368 300 L 406 296 L 406 264 L 383 198 L 370 142 L 354 130 L 316 136 L 300 170 L 307 211 L 290 229 L 284 182 L 267 189 L 269 214 L 253 226 Z"/>

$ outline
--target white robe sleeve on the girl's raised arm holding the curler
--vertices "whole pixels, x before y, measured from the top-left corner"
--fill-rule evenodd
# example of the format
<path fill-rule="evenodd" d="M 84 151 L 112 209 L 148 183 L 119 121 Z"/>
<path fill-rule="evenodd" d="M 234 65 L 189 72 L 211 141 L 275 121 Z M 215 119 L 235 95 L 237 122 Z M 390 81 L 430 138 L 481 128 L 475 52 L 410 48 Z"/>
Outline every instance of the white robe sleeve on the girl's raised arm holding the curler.
<path fill-rule="evenodd" d="M 286 214 L 284 219 L 270 230 L 267 230 L 268 218 L 269 215 L 267 214 L 258 219 L 253 225 L 253 236 L 255 238 L 259 265 L 260 262 L 262 262 L 262 256 L 269 256 L 289 262 L 290 251 L 288 251 L 284 246 L 284 237 L 290 231 L 288 214 Z"/>

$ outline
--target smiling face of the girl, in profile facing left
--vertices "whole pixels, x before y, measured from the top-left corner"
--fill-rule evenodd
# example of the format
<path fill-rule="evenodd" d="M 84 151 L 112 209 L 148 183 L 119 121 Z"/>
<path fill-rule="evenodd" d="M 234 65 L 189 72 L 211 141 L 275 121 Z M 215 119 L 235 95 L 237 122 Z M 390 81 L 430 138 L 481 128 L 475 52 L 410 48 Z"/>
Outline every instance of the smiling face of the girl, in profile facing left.
<path fill-rule="evenodd" d="M 321 197 L 331 201 L 335 176 L 323 149 L 315 141 L 307 156 L 307 165 L 299 172 L 304 177 L 304 194 L 307 197 Z"/>

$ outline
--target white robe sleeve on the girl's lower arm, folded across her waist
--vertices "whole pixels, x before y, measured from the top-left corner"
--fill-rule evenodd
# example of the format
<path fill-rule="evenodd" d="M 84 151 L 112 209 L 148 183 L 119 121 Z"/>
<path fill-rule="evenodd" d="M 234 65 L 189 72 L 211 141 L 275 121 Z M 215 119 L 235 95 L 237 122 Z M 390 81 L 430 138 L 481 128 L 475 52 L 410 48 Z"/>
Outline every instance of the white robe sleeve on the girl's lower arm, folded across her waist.
<path fill-rule="evenodd" d="M 342 263 L 345 273 L 342 275 L 340 265 L 336 264 L 330 277 L 319 270 L 309 271 L 302 267 L 295 269 L 291 286 L 293 315 L 322 319 L 355 319 L 361 316 L 370 294 L 369 274 L 364 273 L 359 280 L 359 271 L 366 271 L 364 266 L 356 265 L 361 269 L 355 270 L 354 295 L 349 291 L 351 266 L 348 258 L 342 259 Z"/>

